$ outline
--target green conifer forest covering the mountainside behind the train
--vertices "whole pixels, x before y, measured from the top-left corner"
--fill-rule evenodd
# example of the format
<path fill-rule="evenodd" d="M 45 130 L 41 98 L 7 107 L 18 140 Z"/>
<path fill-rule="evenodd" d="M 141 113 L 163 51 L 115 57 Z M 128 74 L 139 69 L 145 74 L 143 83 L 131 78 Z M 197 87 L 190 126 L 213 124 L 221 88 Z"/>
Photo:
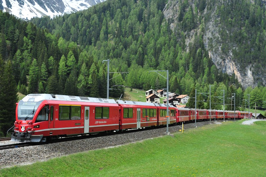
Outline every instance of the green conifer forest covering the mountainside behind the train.
<path fill-rule="evenodd" d="M 29 21 L 0 11 L 0 137 L 7 136 L 14 124 L 17 92 L 106 98 L 107 65 L 102 61 L 107 59 L 110 72 L 129 72 L 118 77 L 110 73 L 110 78 L 115 78 L 109 87 L 166 88 L 166 79 L 149 71 L 169 70 L 170 92 L 193 97 L 195 89 L 209 92 L 209 85 L 213 85 L 213 96 L 222 96 L 221 90 L 226 98 L 236 94 L 236 110 L 243 109 L 247 94 L 250 107 L 256 102 L 265 110 L 266 87 L 262 82 L 243 88 L 235 75 L 218 70 L 201 33 L 194 36 L 193 43 L 185 43 L 188 31 L 199 26 L 204 29 L 204 21 L 211 18 L 202 12 L 216 8 L 221 26 L 232 31 L 230 35 L 225 31 L 219 34 L 226 41 L 222 51 L 226 53 L 232 47 L 230 40 L 236 40 L 239 50 L 233 54 L 241 67 L 253 62 L 265 72 L 265 4 L 233 0 L 217 5 L 215 1 L 195 0 L 193 6 L 182 1 L 177 14 L 181 25 L 175 31 L 163 14 L 166 0 L 107 0 L 72 14 Z M 121 92 L 110 90 L 109 95 L 118 99 Z M 206 104 L 200 102 L 198 108 L 208 109 L 209 99 L 197 97 L 203 99 Z M 212 102 L 221 101 L 212 98 Z M 212 109 L 222 107 L 215 104 Z"/>

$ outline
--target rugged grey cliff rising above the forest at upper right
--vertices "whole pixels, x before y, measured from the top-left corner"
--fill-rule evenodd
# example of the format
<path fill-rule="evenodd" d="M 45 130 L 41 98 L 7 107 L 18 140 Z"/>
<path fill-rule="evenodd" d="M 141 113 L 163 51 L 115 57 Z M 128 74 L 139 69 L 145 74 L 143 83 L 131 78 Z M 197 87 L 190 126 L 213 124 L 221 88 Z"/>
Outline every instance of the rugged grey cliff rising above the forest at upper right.
<path fill-rule="evenodd" d="M 171 30 L 175 33 L 177 33 L 178 30 L 181 30 L 181 22 L 178 20 L 178 16 L 181 3 L 183 2 L 184 1 L 182 0 L 170 0 L 163 10 L 166 19 L 170 22 Z M 199 1 L 189 0 L 188 6 L 195 9 L 194 7 L 197 2 Z M 265 5 L 266 1 L 262 0 L 262 4 Z M 228 45 L 231 47 L 228 48 L 226 53 L 222 51 L 222 44 L 224 41 L 219 35 L 222 28 L 219 26 L 219 23 L 217 23 L 217 21 L 219 21 L 217 9 L 210 9 L 206 5 L 204 11 L 199 14 L 199 16 L 202 17 L 202 20 L 196 22 L 196 27 L 194 29 L 184 32 L 186 34 L 186 46 L 188 47 L 189 43 L 193 43 L 195 33 L 198 35 L 201 34 L 203 35 L 203 43 L 209 53 L 209 57 L 219 70 L 222 70 L 224 73 L 226 72 L 230 76 L 234 73 L 244 88 L 248 86 L 257 86 L 258 79 L 263 85 L 266 85 L 266 74 L 264 70 L 257 71 L 259 74 L 254 74 L 254 70 L 256 69 L 254 63 L 246 64 L 243 67 L 243 65 L 241 66 L 241 64 L 234 59 L 232 50 L 237 50 L 236 43 L 231 42 L 230 45 Z M 207 20 L 205 19 L 206 14 L 208 14 Z M 226 30 L 226 32 L 230 33 L 228 30 Z M 250 41 L 246 42 L 249 43 Z"/>

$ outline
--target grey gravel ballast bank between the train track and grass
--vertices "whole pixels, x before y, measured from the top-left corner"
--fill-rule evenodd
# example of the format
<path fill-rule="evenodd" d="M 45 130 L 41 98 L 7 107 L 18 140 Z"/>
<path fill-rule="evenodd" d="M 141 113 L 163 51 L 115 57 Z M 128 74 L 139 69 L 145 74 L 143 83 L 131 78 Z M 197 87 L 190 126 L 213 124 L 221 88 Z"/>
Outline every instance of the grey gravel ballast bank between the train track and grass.
<path fill-rule="evenodd" d="M 210 121 L 200 121 L 197 122 L 197 126 L 203 126 L 209 123 Z M 184 129 L 191 128 L 194 128 L 194 123 L 184 124 Z M 169 131 L 171 133 L 179 131 L 180 129 L 182 129 L 182 125 L 169 127 Z M 145 131 L 113 134 L 109 136 L 80 139 L 68 142 L 21 147 L 11 150 L 1 150 L 0 169 L 11 167 L 13 165 L 26 165 L 37 161 L 46 161 L 54 157 L 73 154 L 76 152 L 113 147 L 148 138 L 159 137 L 164 135 L 165 132 L 166 127 L 163 127 L 160 129 L 150 129 Z"/>

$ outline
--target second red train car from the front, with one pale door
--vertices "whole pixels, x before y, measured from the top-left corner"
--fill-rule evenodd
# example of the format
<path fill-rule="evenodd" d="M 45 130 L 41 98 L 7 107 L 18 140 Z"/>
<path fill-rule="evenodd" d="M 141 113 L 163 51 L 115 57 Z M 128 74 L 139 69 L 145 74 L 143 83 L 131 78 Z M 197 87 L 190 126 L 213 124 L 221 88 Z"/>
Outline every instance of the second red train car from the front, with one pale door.
<path fill-rule="evenodd" d="M 153 103 L 116 100 L 120 106 L 119 130 L 157 126 L 157 107 Z"/>

